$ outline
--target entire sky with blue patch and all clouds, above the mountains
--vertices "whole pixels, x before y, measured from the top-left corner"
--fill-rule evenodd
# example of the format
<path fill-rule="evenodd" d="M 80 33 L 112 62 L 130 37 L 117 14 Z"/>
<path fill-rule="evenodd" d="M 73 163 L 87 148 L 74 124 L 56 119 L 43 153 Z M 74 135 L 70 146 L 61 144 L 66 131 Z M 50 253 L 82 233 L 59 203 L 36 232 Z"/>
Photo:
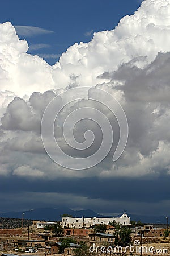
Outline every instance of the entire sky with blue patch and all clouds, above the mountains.
<path fill-rule="evenodd" d="M 124 210 L 168 216 L 170 0 L 6 1 L 1 7 L 0 212 L 63 206 L 113 216 Z M 103 104 L 73 101 L 79 97 L 75 88 L 83 92 L 84 86 L 94 88 L 92 98 L 99 96 L 96 88 L 108 92 L 124 109 L 129 138 L 116 162 L 112 157 L 120 127 L 106 107 L 108 96 L 103 93 Z M 73 93 L 66 94 L 67 89 Z M 65 120 L 70 143 L 78 109 L 96 120 L 98 108 L 111 123 L 114 141 L 99 164 L 71 170 L 46 153 L 41 119 L 56 96 L 56 108 L 70 102 L 55 120 L 54 135 L 72 158 L 86 158 L 100 148 L 100 125 L 106 119 L 85 118 L 75 125 L 79 144 L 86 131 L 95 134 L 87 150 L 69 147 L 62 133 Z M 48 137 L 45 143 L 53 154 Z M 60 153 L 57 158 L 65 162 Z"/>

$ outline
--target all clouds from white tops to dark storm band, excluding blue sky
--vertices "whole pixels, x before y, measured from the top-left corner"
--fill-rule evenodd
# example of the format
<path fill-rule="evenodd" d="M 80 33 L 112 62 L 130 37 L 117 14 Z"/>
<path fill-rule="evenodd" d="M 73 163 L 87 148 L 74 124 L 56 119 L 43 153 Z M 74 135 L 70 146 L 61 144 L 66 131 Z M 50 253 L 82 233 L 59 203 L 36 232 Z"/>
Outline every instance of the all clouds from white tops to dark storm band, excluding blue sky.
<path fill-rule="evenodd" d="M 56 205 L 103 213 L 170 210 L 169 25 L 168 1 L 144 1 L 115 30 L 95 33 L 90 43 L 75 43 L 50 67 L 39 56 L 27 54 L 27 42 L 19 40 L 11 23 L 0 24 L 2 211 Z M 58 166 L 46 154 L 40 123 L 45 107 L 59 92 L 84 85 L 104 89 L 121 103 L 129 139 L 121 158 L 112 162 L 118 123 L 108 109 L 90 102 L 111 121 L 115 140 L 103 162 L 74 171 Z M 57 106 L 62 101 L 61 96 Z M 99 126 L 83 121 L 75 126 L 75 138 L 83 142 L 84 132 L 92 130 L 94 147 L 86 152 L 67 148 L 63 122 L 82 104 L 86 101 L 68 105 L 54 127 L 61 147 L 73 156 L 91 154 L 101 143 Z"/>

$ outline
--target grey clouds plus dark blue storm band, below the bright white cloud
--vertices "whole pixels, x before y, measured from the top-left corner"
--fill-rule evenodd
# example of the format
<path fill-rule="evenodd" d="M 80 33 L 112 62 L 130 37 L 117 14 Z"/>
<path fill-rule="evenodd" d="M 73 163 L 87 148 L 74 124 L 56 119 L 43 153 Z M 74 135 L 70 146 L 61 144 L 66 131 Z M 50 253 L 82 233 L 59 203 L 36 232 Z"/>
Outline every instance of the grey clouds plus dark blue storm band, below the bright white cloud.
<path fill-rule="evenodd" d="M 129 212 L 154 214 L 160 207 L 160 212 L 168 210 L 170 146 L 167 98 L 170 80 L 166 67 L 169 65 L 169 53 L 160 53 L 146 68 L 139 68 L 135 63 L 137 60 L 130 61 L 121 65 L 117 72 L 109 74 L 112 83 L 116 81 L 116 86 L 100 85 L 113 95 L 123 92 L 119 97 L 129 121 L 128 144 L 116 163 L 112 162 L 115 144 L 111 154 L 90 170 L 66 170 L 52 162 L 42 147 L 40 121 L 45 106 L 56 95 L 54 92 L 33 93 L 29 101 L 15 98 L 8 105 L 1 126 L 4 153 L 0 158 L 0 191 L 4 198 L 9 198 L 8 203 L 13 209 L 22 210 L 28 205 L 36 208 L 66 204 L 70 208 L 83 205 L 83 208 L 103 213 L 128 209 Z M 61 101 L 62 98 L 58 104 Z M 87 102 L 68 105 L 58 117 L 59 125 L 62 127 L 65 117 L 82 104 L 86 106 Z M 119 131 L 114 116 L 102 105 L 88 104 L 111 119 L 117 138 Z M 100 134 L 98 128 L 91 122 L 79 123 L 75 127 L 75 137 L 82 141 L 87 129 L 94 130 L 97 137 Z M 56 135 L 65 148 L 59 126 Z M 100 140 L 96 147 L 99 144 Z M 13 201 L 10 199 L 12 193 L 15 195 Z M 7 201 L 2 202 L 2 209 L 8 209 Z"/>

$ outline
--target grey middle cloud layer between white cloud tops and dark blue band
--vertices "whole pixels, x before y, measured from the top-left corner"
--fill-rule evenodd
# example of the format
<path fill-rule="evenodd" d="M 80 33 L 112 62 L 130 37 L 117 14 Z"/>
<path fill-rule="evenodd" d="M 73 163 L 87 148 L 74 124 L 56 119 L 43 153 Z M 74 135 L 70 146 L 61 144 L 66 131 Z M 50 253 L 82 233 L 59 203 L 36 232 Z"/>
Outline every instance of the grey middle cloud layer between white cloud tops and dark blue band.
<path fill-rule="evenodd" d="M 112 163 L 109 158 L 109 163 L 104 161 L 90 172 L 81 171 L 78 174 L 73 171 L 71 175 L 74 173 L 75 176 L 79 177 L 89 175 L 99 175 L 101 177 L 129 177 L 133 175 L 133 177 L 141 177 L 161 175 L 162 171 L 169 175 L 170 135 L 168 127 L 170 118 L 168 92 L 170 79 L 169 70 L 167 69 L 169 64 L 169 53 L 159 53 L 156 59 L 146 68 L 137 68 L 134 63 L 130 62 L 121 65 L 118 71 L 114 73 L 103 74 L 103 76 L 110 77 L 113 82 L 116 80 L 117 84 L 120 84 L 114 88 L 110 83 L 99 87 L 108 90 L 113 95 L 117 94 L 117 97 L 122 100 L 121 103 L 129 121 L 128 145 L 124 155 L 116 163 Z M 60 171 L 63 170 L 61 167 L 56 169 L 54 163 L 50 164 L 51 160 L 48 156 L 45 156 L 40 138 L 42 114 L 48 103 L 57 95 L 56 93 L 52 91 L 43 94 L 33 93 L 29 101 L 15 97 L 1 118 L 1 129 L 6 133 L 5 141 L 2 143 L 2 151 L 5 152 L 6 149 L 20 152 L 31 168 L 35 168 L 35 166 L 32 166 L 34 158 L 46 159 L 48 171 L 44 170 L 44 175 L 48 179 L 60 176 Z M 82 105 L 82 102 L 77 102 L 68 106 L 65 112 L 59 115 L 59 126 L 57 126 L 56 135 L 63 148 L 66 147 L 61 131 L 63 122 L 70 112 L 82 106 L 86 106 L 86 101 L 84 105 Z M 88 106 L 95 108 L 97 105 L 94 102 L 88 102 Z M 113 117 L 112 115 L 109 116 L 108 110 L 104 109 L 103 106 L 97 106 L 97 108 L 113 122 Z M 113 124 L 116 125 L 114 122 Z M 94 148 L 99 147 L 101 132 L 94 123 L 82 121 L 82 124 L 75 129 L 76 138 L 81 141 L 84 132 L 88 129 L 96 132 L 98 140 L 97 144 L 94 144 Z M 114 135 L 117 138 L 118 132 L 116 130 L 117 128 L 114 129 Z M 94 148 L 91 150 L 93 151 Z M 33 153 L 32 158 L 25 158 L 26 152 L 29 155 Z M 84 152 L 85 155 L 88 153 Z M 74 155 L 75 152 L 73 151 L 71 154 Z M 76 154 L 78 153 L 76 152 Z M 53 167 L 49 168 L 49 164 Z M 44 163 L 43 167 L 40 164 L 39 170 L 44 169 L 44 167 Z M 36 168 L 38 168 L 37 165 Z M 67 176 L 69 173 L 70 171 L 63 170 L 63 175 Z"/>

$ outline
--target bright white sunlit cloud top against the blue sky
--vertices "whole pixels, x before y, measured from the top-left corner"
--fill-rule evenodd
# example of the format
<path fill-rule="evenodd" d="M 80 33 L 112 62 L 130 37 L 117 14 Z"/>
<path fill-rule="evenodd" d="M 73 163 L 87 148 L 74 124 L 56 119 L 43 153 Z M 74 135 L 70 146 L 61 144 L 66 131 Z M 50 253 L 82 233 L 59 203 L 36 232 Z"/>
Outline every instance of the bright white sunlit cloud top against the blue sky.
<path fill-rule="evenodd" d="M 75 43 L 53 67 L 28 55 L 27 42 L 19 40 L 15 28 L 9 22 L 1 24 L 2 90 L 22 97 L 33 91 L 66 88 L 73 83 L 73 74 L 78 86 L 94 86 L 103 82 L 99 78 L 102 73 L 114 71 L 134 57 L 146 56 L 146 63 L 139 61 L 139 66 L 150 63 L 158 52 L 170 51 L 169 4 L 169 0 L 142 2 L 138 11 L 122 18 L 114 30 L 95 33 L 90 43 Z"/>

